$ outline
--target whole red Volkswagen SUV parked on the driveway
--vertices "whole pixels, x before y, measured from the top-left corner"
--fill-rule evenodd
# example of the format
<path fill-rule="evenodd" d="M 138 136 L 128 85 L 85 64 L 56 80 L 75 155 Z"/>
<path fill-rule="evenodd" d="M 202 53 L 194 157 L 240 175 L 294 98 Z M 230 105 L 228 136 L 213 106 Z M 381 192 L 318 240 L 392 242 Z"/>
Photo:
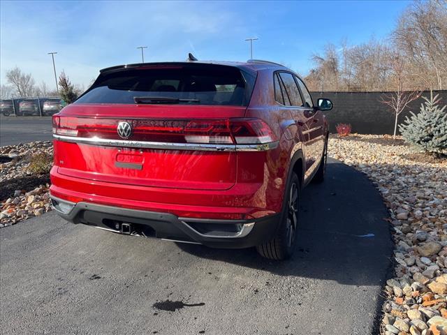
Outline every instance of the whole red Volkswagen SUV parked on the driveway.
<path fill-rule="evenodd" d="M 288 258 L 331 108 L 268 61 L 105 68 L 52 118 L 52 204 L 112 232 Z"/>

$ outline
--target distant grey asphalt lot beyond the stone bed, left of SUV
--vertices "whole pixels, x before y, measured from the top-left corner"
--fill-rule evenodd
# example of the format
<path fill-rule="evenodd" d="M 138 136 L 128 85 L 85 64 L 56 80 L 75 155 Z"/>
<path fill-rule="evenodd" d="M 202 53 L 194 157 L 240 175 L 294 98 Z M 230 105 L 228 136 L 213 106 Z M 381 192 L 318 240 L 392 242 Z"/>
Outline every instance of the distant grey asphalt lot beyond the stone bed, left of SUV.
<path fill-rule="evenodd" d="M 50 140 L 51 117 L 0 117 L 0 146 Z"/>

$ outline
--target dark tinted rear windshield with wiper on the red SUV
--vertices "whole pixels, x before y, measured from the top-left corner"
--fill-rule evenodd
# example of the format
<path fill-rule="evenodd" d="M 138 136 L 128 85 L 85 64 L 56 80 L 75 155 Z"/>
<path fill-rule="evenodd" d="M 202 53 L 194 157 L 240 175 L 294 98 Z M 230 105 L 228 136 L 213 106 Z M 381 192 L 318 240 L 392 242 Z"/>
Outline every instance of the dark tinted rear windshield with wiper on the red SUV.
<path fill-rule="evenodd" d="M 102 73 L 75 103 L 246 106 L 255 80 L 233 66 L 142 66 Z"/>

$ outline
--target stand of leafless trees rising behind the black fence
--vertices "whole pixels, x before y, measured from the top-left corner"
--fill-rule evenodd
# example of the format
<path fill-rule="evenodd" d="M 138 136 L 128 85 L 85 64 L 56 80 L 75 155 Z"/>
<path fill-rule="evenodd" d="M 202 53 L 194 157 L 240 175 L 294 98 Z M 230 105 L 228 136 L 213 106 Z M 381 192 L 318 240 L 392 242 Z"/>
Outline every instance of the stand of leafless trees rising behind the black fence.
<path fill-rule="evenodd" d="M 402 91 L 446 89 L 447 1 L 414 1 L 387 40 L 326 45 L 323 54 L 312 57 L 306 80 L 314 91 L 395 90 L 390 54 L 396 51 L 405 59 Z"/>

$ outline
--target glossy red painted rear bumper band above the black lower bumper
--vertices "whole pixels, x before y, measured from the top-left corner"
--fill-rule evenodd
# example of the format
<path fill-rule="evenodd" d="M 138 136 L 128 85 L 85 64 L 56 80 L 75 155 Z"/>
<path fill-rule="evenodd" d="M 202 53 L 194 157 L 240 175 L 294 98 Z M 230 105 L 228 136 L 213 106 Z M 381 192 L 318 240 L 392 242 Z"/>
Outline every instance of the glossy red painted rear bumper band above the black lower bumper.
<path fill-rule="evenodd" d="M 262 218 L 279 212 L 265 200 L 262 184 L 256 183 L 236 183 L 228 190 L 139 186 L 67 176 L 58 172 L 57 165 L 50 171 L 50 179 L 50 194 L 72 202 L 207 219 Z"/>

